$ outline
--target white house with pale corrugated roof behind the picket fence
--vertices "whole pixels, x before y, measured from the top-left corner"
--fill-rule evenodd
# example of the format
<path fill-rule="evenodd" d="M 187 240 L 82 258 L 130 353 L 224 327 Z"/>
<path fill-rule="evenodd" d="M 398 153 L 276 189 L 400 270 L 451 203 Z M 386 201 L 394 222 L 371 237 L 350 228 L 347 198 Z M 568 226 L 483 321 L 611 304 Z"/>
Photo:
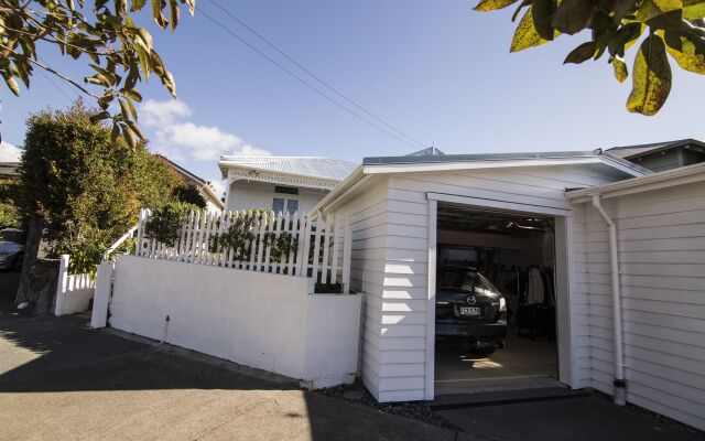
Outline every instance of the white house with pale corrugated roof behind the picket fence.
<path fill-rule="evenodd" d="M 315 157 L 224 155 L 227 211 L 271 209 L 307 213 L 356 166 Z"/>

